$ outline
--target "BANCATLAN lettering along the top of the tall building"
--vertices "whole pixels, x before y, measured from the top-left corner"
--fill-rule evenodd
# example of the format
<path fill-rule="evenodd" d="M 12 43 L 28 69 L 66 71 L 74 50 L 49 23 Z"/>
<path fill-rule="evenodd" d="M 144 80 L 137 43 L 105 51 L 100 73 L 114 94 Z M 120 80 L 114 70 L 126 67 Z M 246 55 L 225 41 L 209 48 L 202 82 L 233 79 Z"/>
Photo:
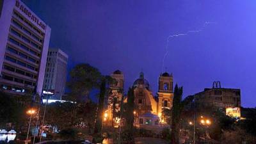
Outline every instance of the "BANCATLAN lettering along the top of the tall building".
<path fill-rule="evenodd" d="M 36 24 L 38 24 L 38 26 L 40 26 L 42 29 L 45 30 L 45 24 L 43 22 L 41 22 L 35 15 L 33 15 L 33 13 L 29 12 L 29 10 L 23 6 L 22 4 L 20 4 L 19 1 L 16 1 L 15 6 L 17 6 L 17 8 L 19 8 L 23 13 L 25 13 L 26 15 L 28 15 L 28 17 L 33 20 L 33 22 L 36 22 Z"/>

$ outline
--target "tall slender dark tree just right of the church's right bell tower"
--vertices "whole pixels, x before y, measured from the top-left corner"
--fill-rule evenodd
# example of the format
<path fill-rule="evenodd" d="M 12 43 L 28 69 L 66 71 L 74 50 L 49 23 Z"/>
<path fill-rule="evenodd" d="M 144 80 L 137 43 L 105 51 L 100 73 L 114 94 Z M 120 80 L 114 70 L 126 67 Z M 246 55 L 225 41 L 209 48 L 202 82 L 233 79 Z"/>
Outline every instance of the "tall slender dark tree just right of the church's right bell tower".
<path fill-rule="evenodd" d="M 192 102 L 194 97 L 193 95 L 186 97 L 182 101 L 182 92 L 183 88 L 179 87 L 178 84 L 175 85 L 174 88 L 174 96 L 173 96 L 173 107 L 172 107 L 172 134 L 171 134 L 171 143 L 179 144 L 179 132 L 180 132 L 180 115 L 184 106 L 188 105 L 189 102 Z"/>

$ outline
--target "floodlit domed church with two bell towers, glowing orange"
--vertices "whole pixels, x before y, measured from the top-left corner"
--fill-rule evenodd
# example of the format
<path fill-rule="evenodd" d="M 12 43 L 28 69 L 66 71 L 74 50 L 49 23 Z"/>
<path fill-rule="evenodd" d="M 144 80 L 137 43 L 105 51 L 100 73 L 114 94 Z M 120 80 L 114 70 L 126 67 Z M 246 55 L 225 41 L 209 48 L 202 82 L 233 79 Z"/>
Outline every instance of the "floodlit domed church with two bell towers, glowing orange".
<path fill-rule="evenodd" d="M 124 95 L 124 74 L 116 70 L 111 74 L 116 80 L 109 86 L 109 94 L 106 96 L 106 111 L 104 124 L 118 127 L 120 118 L 115 114 L 120 112 L 120 104 Z M 145 129 L 154 129 L 166 125 L 162 118 L 164 108 L 171 109 L 173 104 L 173 76 L 168 72 L 159 75 L 158 92 L 154 96 L 150 85 L 143 72 L 133 83 L 134 87 L 134 125 Z M 124 98 L 127 102 L 127 97 Z M 115 106 L 114 106 L 115 105 Z"/>

